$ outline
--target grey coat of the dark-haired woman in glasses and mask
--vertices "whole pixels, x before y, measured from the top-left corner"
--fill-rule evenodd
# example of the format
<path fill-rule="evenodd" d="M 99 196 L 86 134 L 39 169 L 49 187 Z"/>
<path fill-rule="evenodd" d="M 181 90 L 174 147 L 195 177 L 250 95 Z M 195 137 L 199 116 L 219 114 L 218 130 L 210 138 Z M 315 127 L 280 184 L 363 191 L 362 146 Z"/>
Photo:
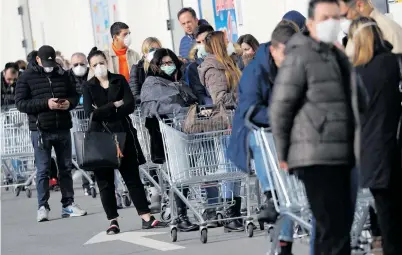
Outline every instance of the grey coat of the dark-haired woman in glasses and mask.
<path fill-rule="evenodd" d="M 178 84 L 157 76 L 148 76 L 141 88 L 141 112 L 144 117 L 177 114 L 186 106 Z"/>

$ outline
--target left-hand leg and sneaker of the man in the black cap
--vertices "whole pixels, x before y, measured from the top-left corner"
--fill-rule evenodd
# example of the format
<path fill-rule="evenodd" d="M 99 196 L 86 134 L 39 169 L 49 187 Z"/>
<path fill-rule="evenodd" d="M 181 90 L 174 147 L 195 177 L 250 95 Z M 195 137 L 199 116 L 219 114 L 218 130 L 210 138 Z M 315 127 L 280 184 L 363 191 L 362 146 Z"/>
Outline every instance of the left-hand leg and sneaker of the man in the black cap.
<path fill-rule="evenodd" d="M 48 220 L 48 212 L 46 210 L 50 210 L 48 200 L 50 197 L 49 171 L 52 147 L 49 137 L 46 134 L 40 135 L 38 131 L 31 132 L 31 140 L 35 156 L 38 209 L 41 210 L 40 212 L 38 211 L 38 221 L 45 221 Z"/>

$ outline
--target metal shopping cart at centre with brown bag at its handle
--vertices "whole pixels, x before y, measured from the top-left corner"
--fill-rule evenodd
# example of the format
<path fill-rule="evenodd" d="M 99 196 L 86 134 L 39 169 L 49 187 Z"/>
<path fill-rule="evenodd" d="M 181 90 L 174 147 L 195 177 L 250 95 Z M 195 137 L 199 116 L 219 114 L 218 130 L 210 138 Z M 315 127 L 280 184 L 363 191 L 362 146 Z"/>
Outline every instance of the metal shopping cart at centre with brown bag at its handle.
<path fill-rule="evenodd" d="M 233 112 L 229 112 L 230 118 Z M 204 117 L 202 117 L 204 118 Z M 163 143 L 166 155 L 166 169 L 161 173 L 168 180 L 170 188 L 170 203 L 174 204 L 174 194 L 176 194 L 187 207 L 192 211 L 196 219 L 200 222 L 200 239 L 202 243 L 207 242 L 207 224 L 219 222 L 218 220 L 204 220 L 202 211 L 205 207 L 228 207 L 234 204 L 234 200 L 222 200 L 219 196 L 214 198 L 218 203 L 208 205 L 208 199 L 203 195 L 204 185 L 215 184 L 219 189 L 219 194 L 231 192 L 224 190 L 224 183 L 241 182 L 245 185 L 245 197 L 247 213 L 245 216 L 231 218 L 227 220 L 245 219 L 246 233 L 249 237 L 253 236 L 254 224 L 251 217 L 250 203 L 250 181 L 249 175 L 237 169 L 226 157 L 226 150 L 229 143 L 231 129 L 222 123 L 213 123 L 215 131 L 187 134 L 183 132 L 185 116 L 176 116 L 171 119 L 160 120 Z M 231 119 L 230 119 L 231 121 Z M 185 197 L 182 191 L 190 188 L 190 194 Z M 177 240 L 177 212 L 172 206 L 171 239 Z"/>

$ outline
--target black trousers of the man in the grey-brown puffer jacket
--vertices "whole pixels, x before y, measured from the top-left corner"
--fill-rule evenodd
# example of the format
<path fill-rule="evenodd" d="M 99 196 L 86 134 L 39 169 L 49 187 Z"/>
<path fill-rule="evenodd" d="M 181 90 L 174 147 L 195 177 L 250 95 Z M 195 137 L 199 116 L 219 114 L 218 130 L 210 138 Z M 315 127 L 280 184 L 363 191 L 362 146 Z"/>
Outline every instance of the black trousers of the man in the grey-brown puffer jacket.
<path fill-rule="evenodd" d="M 354 208 L 348 166 L 311 166 L 295 170 L 304 183 L 316 220 L 314 254 L 350 255 Z"/>

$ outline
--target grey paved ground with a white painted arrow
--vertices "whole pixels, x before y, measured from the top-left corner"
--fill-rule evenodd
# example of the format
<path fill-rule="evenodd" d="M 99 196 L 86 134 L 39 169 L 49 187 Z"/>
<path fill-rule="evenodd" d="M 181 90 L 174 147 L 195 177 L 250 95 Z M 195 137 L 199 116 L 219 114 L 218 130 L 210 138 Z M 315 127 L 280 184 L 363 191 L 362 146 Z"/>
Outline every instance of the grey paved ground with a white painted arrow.
<path fill-rule="evenodd" d="M 2 255 L 205 255 L 205 254 L 266 254 L 269 241 L 265 233 L 256 231 L 253 238 L 244 233 L 224 234 L 222 228 L 209 230 L 208 243 L 201 244 L 198 232 L 179 233 L 178 242 L 171 243 L 169 228 L 140 230 L 140 218 L 134 208 L 120 210 L 121 234 L 105 237 L 108 226 L 99 198 L 85 197 L 76 189 L 76 202 L 89 215 L 61 219 L 60 193 L 52 192 L 51 220 L 36 222 L 36 192 L 32 198 L 24 193 L 15 197 L 10 191 L 1 193 L 1 254 Z M 157 216 L 158 217 L 158 216 Z M 151 248 L 152 247 L 152 248 Z M 296 244 L 295 255 L 307 255 L 305 244 Z M 252 253 L 250 253 L 252 252 Z"/>

